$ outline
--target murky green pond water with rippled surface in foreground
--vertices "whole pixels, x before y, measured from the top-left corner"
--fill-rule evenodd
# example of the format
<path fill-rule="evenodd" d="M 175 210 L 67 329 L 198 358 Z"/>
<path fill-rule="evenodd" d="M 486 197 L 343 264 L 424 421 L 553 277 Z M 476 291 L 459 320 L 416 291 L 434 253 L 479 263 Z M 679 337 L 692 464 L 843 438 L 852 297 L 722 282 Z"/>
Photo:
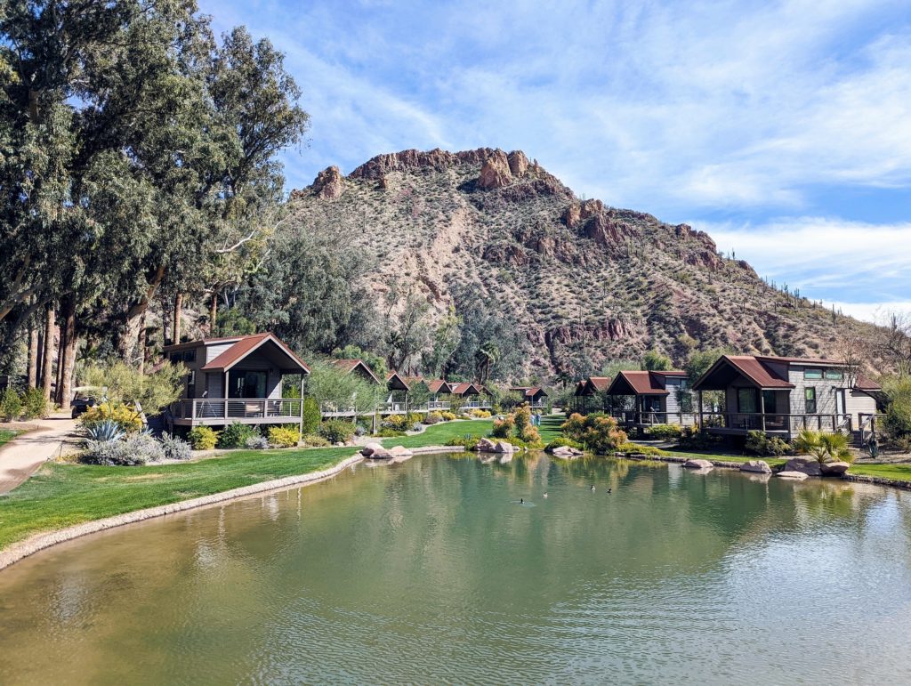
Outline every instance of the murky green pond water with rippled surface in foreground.
<path fill-rule="evenodd" d="M 909 534 L 875 486 L 361 465 L 0 573 L 0 683 L 908 682 Z"/>

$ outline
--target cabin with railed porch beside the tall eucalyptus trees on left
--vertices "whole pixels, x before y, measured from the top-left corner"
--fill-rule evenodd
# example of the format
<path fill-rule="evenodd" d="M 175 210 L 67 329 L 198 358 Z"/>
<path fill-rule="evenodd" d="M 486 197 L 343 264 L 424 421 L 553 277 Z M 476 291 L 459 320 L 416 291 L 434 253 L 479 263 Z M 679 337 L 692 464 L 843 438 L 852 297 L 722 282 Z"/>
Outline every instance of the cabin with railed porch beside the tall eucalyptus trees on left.
<path fill-rule="evenodd" d="M 183 363 L 180 399 L 166 417 L 177 426 L 301 425 L 303 378 L 310 369 L 272 333 L 206 338 L 167 345 L 165 357 Z M 300 375 L 298 397 L 281 396 L 288 375 Z"/>

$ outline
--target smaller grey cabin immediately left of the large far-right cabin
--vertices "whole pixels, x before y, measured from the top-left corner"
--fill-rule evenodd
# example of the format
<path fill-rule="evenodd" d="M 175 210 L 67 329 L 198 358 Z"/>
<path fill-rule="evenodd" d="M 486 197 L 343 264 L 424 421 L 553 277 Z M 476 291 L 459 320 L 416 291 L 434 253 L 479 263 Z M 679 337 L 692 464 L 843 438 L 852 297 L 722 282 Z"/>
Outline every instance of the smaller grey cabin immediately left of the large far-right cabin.
<path fill-rule="evenodd" d="M 696 421 L 690 406 L 687 373 L 680 370 L 620 372 L 606 394 L 632 398 L 631 410 L 614 413 L 621 425 L 630 428 L 656 424 L 691 425 Z"/>

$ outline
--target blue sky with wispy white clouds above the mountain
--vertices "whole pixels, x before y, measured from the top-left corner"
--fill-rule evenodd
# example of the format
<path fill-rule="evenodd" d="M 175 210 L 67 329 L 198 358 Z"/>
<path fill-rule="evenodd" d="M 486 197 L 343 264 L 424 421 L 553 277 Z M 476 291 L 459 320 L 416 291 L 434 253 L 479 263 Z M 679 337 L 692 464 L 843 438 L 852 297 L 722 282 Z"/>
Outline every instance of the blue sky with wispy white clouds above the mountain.
<path fill-rule="evenodd" d="M 200 0 L 286 54 L 286 190 L 406 148 L 521 149 L 875 320 L 911 310 L 907 0 Z"/>

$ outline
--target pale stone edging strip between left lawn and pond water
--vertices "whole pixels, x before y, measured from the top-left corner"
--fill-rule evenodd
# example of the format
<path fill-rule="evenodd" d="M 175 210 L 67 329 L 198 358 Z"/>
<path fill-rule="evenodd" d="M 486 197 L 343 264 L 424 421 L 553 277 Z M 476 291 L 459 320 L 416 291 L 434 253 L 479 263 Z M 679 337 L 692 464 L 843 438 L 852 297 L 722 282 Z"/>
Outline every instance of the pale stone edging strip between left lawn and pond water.
<path fill-rule="evenodd" d="M 424 453 L 454 453 L 461 452 L 463 450 L 465 450 L 465 448 L 462 448 L 461 446 L 427 445 L 424 447 L 413 448 L 412 452 L 414 452 L 415 455 L 421 455 Z M 15 564 L 21 559 L 35 555 L 35 553 L 40 552 L 41 550 L 46 550 L 47 548 L 56 546 L 59 543 L 66 543 L 67 541 L 71 541 L 76 538 L 82 538 L 84 536 L 89 536 L 90 534 L 97 534 L 100 531 L 107 531 L 107 529 L 123 527 L 128 524 L 135 524 L 136 522 L 143 522 L 147 521 L 148 519 L 173 515 L 179 512 L 186 512 L 188 510 L 197 509 L 199 507 L 207 507 L 211 505 L 218 505 L 220 503 L 227 503 L 231 500 L 241 500 L 245 497 L 258 496 L 269 491 L 277 491 L 283 488 L 290 488 L 292 486 L 310 486 L 312 484 L 335 476 L 343 472 L 348 467 L 363 462 L 363 460 L 364 457 L 358 454 L 342 460 L 342 462 L 338 463 L 337 465 L 333 465 L 316 472 L 309 472 L 307 474 L 296 476 L 285 476 L 281 479 L 263 481 L 260 484 L 241 486 L 241 488 L 231 488 L 228 491 L 213 493 L 210 496 L 194 497 L 190 498 L 189 500 L 180 500 L 177 503 L 170 503 L 169 505 L 146 507 L 145 509 L 141 510 L 125 512 L 122 515 L 116 515 L 115 517 L 95 519 L 93 521 L 83 522 L 82 524 L 77 524 L 72 527 L 66 527 L 57 529 L 56 531 L 48 531 L 41 534 L 35 534 L 29 538 L 26 538 L 25 540 L 14 543 L 12 546 L 6 548 L 5 550 L 0 550 L 0 570 L 3 570 L 10 565 Z"/>

